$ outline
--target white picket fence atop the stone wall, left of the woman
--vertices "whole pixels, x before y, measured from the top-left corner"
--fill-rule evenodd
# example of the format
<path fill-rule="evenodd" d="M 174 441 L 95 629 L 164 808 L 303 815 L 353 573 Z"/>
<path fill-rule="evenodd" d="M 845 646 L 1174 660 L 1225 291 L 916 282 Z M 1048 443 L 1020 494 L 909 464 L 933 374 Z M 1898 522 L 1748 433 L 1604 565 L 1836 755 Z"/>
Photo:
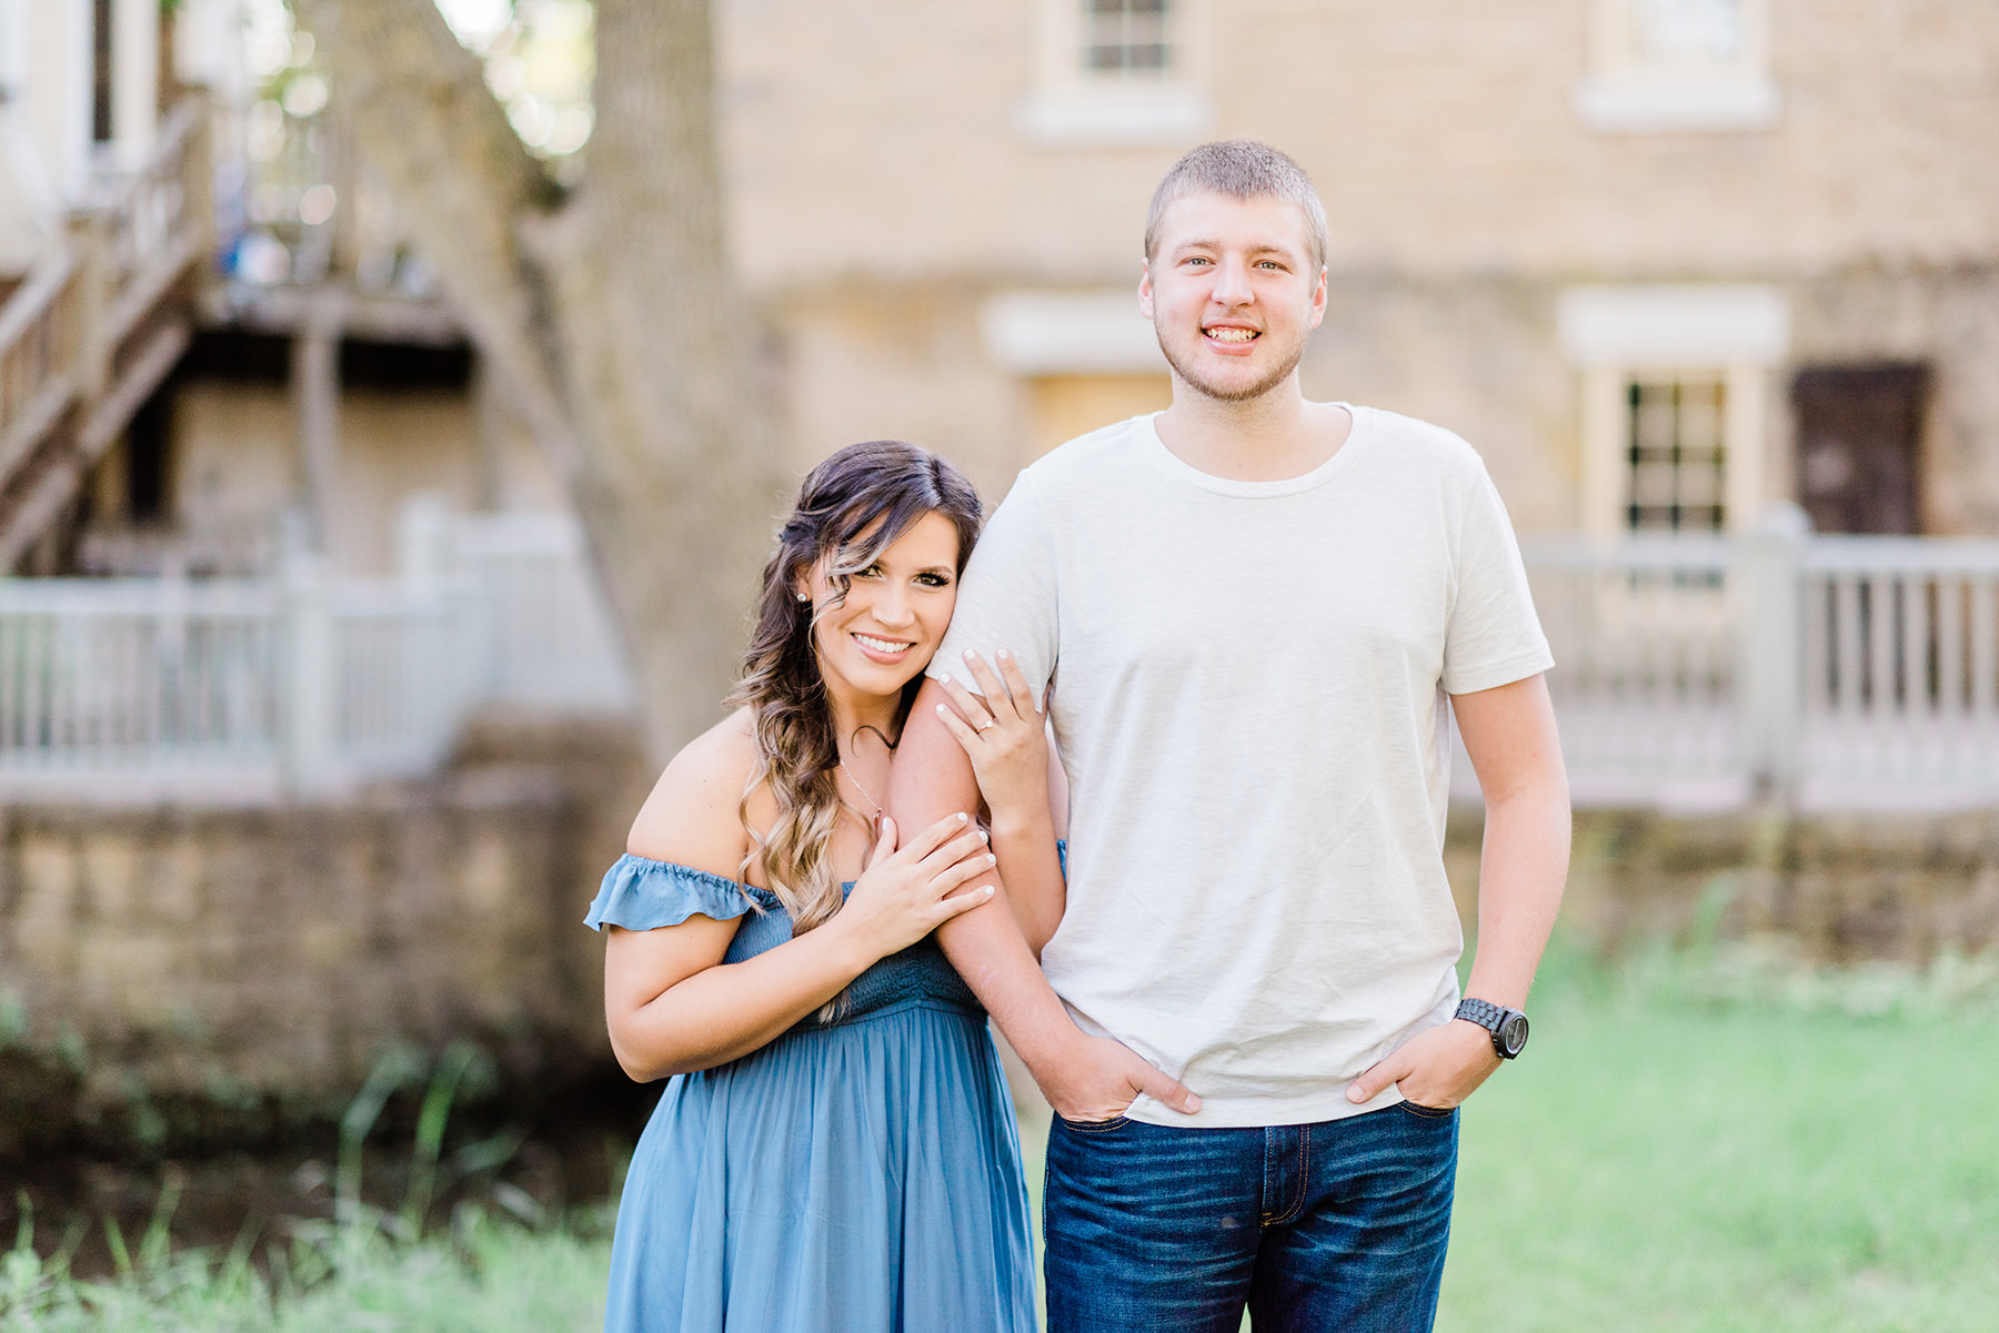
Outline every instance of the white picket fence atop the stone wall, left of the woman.
<path fill-rule="evenodd" d="M 262 801 L 438 767 L 482 705 L 630 711 L 564 516 L 404 514 L 394 580 L 0 580 L 0 795 Z"/>

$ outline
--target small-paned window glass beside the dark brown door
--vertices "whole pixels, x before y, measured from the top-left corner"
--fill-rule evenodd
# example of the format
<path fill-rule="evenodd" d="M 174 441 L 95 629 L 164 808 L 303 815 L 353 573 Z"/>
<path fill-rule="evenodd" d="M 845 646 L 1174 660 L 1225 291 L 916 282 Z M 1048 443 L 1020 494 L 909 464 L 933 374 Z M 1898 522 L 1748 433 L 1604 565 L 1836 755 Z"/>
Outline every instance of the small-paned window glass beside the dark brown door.
<path fill-rule="evenodd" d="M 1641 378 L 1629 402 L 1625 526 L 1631 532 L 1727 528 L 1727 380 Z"/>

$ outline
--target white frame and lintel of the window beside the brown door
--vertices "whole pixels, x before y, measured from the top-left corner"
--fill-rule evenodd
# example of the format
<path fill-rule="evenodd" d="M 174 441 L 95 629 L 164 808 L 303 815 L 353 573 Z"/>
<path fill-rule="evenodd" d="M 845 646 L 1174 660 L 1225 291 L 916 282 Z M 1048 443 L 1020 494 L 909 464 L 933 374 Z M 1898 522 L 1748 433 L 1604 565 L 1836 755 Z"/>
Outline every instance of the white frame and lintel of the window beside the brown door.
<path fill-rule="evenodd" d="M 1561 294 L 1563 352 L 1581 374 L 1577 526 L 1629 534 L 1631 384 L 1723 382 L 1725 532 L 1751 532 L 1767 500 L 1769 386 L 1791 350 L 1791 308 L 1761 284 L 1579 286 Z"/>

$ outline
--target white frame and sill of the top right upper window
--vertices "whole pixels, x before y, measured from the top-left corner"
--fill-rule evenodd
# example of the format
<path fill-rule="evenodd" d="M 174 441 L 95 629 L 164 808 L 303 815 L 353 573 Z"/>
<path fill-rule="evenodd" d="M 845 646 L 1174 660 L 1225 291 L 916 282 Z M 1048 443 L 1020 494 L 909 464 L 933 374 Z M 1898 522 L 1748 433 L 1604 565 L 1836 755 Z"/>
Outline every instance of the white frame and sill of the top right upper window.
<path fill-rule="evenodd" d="M 1767 130 L 1783 96 L 1769 70 L 1769 0 L 1737 0 L 1741 32 L 1727 60 L 1663 60 L 1641 50 L 1639 6 L 1591 0 L 1589 72 L 1575 82 L 1577 118 L 1601 134 Z"/>

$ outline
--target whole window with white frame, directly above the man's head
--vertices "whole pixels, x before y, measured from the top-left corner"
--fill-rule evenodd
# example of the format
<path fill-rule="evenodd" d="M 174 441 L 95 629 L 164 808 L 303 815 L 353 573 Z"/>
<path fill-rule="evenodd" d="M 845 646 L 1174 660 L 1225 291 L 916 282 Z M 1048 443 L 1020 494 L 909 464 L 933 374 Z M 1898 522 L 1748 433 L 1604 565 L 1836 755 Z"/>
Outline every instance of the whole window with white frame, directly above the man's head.
<path fill-rule="evenodd" d="M 1013 112 L 1051 148 L 1187 146 L 1207 138 L 1207 0 L 1033 0 L 1033 68 Z"/>

